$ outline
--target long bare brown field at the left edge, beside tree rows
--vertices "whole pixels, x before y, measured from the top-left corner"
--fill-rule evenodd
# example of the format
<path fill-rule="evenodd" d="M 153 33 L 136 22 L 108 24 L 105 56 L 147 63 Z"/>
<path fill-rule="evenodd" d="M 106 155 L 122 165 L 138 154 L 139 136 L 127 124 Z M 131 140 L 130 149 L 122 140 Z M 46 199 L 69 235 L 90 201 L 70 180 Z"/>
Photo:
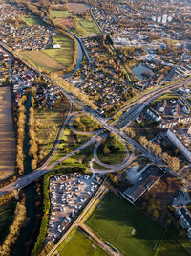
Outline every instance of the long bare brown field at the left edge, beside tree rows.
<path fill-rule="evenodd" d="M 0 180 L 14 173 L 16 144 L 11 116 L 11 92 L 0 87 Z"/>

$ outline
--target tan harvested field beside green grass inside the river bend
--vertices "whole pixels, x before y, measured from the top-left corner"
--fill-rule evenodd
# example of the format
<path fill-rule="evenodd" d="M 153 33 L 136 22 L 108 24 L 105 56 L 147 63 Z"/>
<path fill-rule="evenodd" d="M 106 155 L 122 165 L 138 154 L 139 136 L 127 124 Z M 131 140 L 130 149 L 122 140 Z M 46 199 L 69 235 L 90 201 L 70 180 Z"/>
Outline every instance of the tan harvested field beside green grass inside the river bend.
<path fill-rule="evenodd" d="M 19 55 L 29 61 L 37 69 L 56 72 L 64 69 L 64 66 L 41 51 L 21 51 Z"/>

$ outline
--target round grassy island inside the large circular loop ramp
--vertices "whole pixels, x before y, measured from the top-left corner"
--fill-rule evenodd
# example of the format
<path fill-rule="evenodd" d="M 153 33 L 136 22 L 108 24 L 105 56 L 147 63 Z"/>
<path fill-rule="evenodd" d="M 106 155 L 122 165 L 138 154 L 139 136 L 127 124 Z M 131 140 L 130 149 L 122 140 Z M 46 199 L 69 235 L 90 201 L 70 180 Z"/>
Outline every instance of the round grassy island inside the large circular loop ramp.
<path fill-rule="evenodd" d="M 110 152 L 105 154 L 104 147 L 107 147 Z M 106 140 L 103 140 L 101 145 L 98 147 L 97 155 L 101 162 L 116 165 L 125 159 L 126 150 L 125 146 L 118 138 L 113 140 L 108 137 Z"/>

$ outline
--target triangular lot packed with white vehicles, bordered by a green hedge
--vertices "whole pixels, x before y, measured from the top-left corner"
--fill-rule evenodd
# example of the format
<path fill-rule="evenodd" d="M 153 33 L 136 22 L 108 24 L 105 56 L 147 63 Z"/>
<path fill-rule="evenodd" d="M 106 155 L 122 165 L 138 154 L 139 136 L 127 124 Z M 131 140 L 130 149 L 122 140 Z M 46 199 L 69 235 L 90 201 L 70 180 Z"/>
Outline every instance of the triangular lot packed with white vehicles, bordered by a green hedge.
<path fill-rule="evenodd" d="M 49 241 L 54 242 L 65 232 L 76 214 L 93 197 L 100 184 L 97 177 L 74 173 L 50 178 L 51 212 L 47 233 Z"/>

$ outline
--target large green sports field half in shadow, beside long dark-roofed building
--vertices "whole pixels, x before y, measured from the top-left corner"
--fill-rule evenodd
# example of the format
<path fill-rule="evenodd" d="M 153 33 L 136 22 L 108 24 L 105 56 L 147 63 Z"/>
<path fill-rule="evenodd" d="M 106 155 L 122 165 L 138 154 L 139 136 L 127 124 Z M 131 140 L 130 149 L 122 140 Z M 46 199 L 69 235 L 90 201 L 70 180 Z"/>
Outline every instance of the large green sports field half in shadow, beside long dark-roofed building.
<path fill-rule="evenodd" d="M 162 232 L 156 222 L 112 193 L 103 199 L 87 224 L 129 256 L 153 255 Z"/>

